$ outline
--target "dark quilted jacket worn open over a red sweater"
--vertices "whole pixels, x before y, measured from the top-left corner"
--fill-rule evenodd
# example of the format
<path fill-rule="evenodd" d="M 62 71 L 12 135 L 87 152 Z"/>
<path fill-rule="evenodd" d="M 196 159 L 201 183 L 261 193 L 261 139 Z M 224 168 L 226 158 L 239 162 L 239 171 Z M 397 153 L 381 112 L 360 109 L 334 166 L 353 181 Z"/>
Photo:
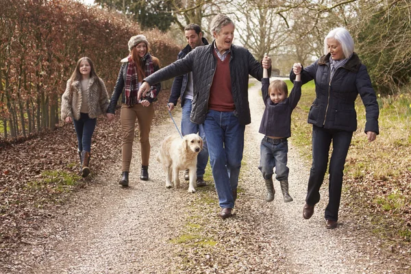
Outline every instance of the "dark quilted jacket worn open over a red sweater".
<path fill-rule="evenodd" d="M 217 65 L 213 50 L 214 42 L 203 47 L 196 47 L 190 51 L 185 58 L 173 62 L 173 64 L 164 67 L 164 69 L 160 69 L 160 71 L 144 79 L 144 81 L 152 86 L 158 82 L 192 71 L 194 84 L 194 98 L 192 99 L 192 111 L 190 115 L 190 121 L 192 121 L 192 123 L 201 124 L 206 119 L 210 87 Z M 263 69 L 261 64 L 247 49 L 232 45 L 229 71 L 238 121 L 241 125 L 247 125 L 251 123 L 248 101 L 249 75 L 261 81 Z M 269 75 L 270 73 L 271 69 L 269 69 Z"/>

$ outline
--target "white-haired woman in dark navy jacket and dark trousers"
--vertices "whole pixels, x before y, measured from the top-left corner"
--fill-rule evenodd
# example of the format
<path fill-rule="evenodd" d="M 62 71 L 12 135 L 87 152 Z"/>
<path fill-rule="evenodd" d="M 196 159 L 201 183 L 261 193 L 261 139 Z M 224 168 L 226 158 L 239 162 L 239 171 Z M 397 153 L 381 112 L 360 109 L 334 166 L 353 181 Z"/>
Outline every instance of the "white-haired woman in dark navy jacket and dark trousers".
<path fill-rule="evenodd" d="M 353 51 L 353 38 L 347 29 L 338 27 L 324 39 L 325 55 L 301 71 L 303 84 L 314 79 L 316 91 L 316 98 L 308 114 L 308 123 L 312 124 L 312 166 L 303 218 L 311 218 L 314 206 L 320 200 L 319 190 L 327 171 L 329 147 L 332 143 L 329 203 L 325 208 L 325 225 L 330 229 L 338 226 L 344 164 L 353 132 L 357 129 L 354 103 L 358 94 L 366 110 L 366 138 L 372 142 L 379 134 L 377 97 L 366 66 Z M 295 79 L 294 72 L 299 72 L 299 68 L 296 64 L 292 67 L 292 81 Z"/>

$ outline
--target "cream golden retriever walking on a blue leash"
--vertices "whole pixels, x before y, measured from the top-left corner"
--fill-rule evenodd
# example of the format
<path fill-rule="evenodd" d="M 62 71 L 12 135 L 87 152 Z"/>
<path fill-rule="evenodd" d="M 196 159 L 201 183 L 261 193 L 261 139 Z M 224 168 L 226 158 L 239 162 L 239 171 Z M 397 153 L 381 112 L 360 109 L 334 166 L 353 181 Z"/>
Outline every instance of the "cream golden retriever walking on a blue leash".
<path fill-rule="evenodd" d="M 187 134 L 166 137 L 161 144 L 157 160 L 162 163 L 166 173 L 166 188 L 171 188 L 171 175 L 175 188 L 179 188 L 179 171 L 188 169 L 190 183 L 188 192 L 195 192 L 197 186 L 197 155 L 203 149 L 203 139 L 198 134 Z"/>

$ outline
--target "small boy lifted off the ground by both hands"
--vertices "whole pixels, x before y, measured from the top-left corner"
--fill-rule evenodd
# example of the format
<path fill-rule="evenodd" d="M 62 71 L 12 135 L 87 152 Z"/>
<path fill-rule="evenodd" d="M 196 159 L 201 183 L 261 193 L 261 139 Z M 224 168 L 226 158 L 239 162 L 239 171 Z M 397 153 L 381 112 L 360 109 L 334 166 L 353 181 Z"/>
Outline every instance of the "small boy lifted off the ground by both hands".
<path fill-rule="evenodd" d="M 301 64 L 295 63 L 292 70 L 297 77 L 290 97 L 287 97 L 287 84 L 284 81 L 275 80 L 270 84 L 266 69 L 264 69 L 261 81 L 262 99 L 266 107 L 259 130 L 265 136 L 260 145 L 260 166 L 258 169 L 262 172 L 262 177 L 266 183 L 267 202 L 274 199 L 274 167 L 275 179 L 279 181 L 281 186 L 284 202 L 292 201 L 292 197 L 288 194 L 287 138 L 291 136 L 291 112 L 301 97 Z"/>

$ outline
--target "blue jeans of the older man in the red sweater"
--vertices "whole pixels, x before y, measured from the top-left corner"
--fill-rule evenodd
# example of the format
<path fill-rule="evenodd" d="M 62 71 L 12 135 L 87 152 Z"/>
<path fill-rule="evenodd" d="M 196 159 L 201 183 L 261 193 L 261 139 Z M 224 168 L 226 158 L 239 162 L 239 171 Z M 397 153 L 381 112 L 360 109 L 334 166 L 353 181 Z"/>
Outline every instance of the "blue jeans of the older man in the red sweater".
<path fill-rule="evenodd" d="M 238 186 L 245 125 L 240 125 L 234 112 L 216 110 L 208 111 L 203 125 L 220 207 L 234 208 L 232 191 Z"/>

